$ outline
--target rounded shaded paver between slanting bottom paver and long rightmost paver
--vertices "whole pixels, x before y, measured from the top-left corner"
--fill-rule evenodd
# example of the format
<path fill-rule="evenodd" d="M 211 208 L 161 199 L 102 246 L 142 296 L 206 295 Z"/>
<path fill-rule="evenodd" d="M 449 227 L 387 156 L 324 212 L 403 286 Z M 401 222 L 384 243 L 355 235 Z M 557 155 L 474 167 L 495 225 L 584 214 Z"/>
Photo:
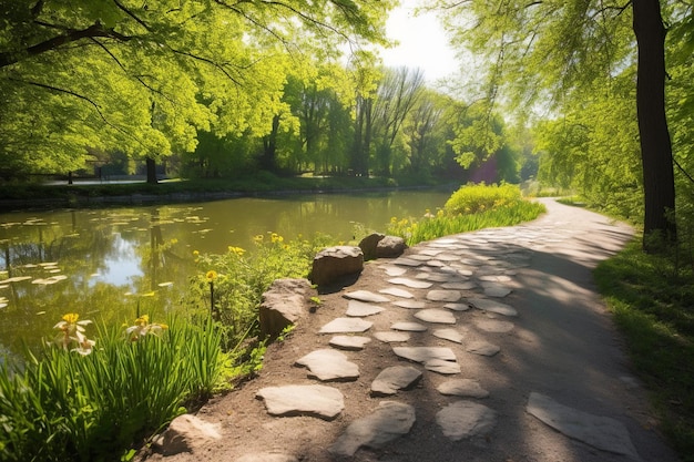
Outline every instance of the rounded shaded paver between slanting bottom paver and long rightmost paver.
<path fill-rule="evenodd" d="M 497 424 L 497 412 L 472 401 L 457 401 L 436 414 L 443 435 L 452 441 L 488 434 Z"/>

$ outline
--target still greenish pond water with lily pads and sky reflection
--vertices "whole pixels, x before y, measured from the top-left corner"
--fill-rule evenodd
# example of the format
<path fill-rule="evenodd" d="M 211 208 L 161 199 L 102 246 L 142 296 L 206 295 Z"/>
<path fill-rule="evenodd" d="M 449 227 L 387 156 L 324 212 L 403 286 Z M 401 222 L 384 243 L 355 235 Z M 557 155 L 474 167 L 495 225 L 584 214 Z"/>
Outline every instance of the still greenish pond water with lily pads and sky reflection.
<path fill-rule="evenodd" d="M 53 335 L 65 312 L 132 321 L 177 307 L 202 269 L 193 251 L 252 248 L 253 236 L 287 240 L 360 228 L 385 232 L 392 216 L 420 217 L 450 191 L 290 195 L 206 203 L 0 214 L 0 357 Z M 154 292 L 154 296 L 145 294 Z"/>

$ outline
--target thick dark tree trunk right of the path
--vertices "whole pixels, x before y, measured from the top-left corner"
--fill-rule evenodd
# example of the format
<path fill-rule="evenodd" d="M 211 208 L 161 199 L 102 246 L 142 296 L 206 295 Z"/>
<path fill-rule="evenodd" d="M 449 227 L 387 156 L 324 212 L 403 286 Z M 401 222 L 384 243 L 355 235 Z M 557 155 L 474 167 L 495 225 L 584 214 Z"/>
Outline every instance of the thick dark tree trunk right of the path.
<path fill-rule="evenodd" d="M 654 250 L 652 235 L 676 238 L 675 179 L 672 143 L 665 119 L 665 27 L 659 0 L 633 0 L 639 44 L 636 109 L 643 164 L 644 249 Z M 615 123 L 619 123 L 615 121 Z"/>

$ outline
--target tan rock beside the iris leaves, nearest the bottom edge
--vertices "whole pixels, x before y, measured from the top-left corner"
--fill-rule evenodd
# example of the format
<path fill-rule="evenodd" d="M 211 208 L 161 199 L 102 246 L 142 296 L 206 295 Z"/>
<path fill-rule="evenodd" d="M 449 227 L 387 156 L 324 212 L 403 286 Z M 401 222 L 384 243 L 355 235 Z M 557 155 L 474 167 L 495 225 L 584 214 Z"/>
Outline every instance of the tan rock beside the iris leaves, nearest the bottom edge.
<path fill-rule="evenodd" d="M 155 444 L 160 446 L 162 454 L 174 455 L 195 452 L 195 448 L 220 439 L 222 435 L 217 425 L 192 414 L 183 414 L 171 422 Z"/>

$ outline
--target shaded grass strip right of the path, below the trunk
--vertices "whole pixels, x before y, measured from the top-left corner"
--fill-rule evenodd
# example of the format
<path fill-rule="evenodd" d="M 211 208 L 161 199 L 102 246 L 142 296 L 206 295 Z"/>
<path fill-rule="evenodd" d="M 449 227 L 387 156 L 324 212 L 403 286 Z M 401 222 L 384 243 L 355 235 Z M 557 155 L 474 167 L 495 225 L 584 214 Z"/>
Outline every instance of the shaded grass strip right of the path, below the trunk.
<path fill-rule="evenodd" d="M 694 461 L 694 271 L 636 239 L 594 274 L 663 431 Z"/>

